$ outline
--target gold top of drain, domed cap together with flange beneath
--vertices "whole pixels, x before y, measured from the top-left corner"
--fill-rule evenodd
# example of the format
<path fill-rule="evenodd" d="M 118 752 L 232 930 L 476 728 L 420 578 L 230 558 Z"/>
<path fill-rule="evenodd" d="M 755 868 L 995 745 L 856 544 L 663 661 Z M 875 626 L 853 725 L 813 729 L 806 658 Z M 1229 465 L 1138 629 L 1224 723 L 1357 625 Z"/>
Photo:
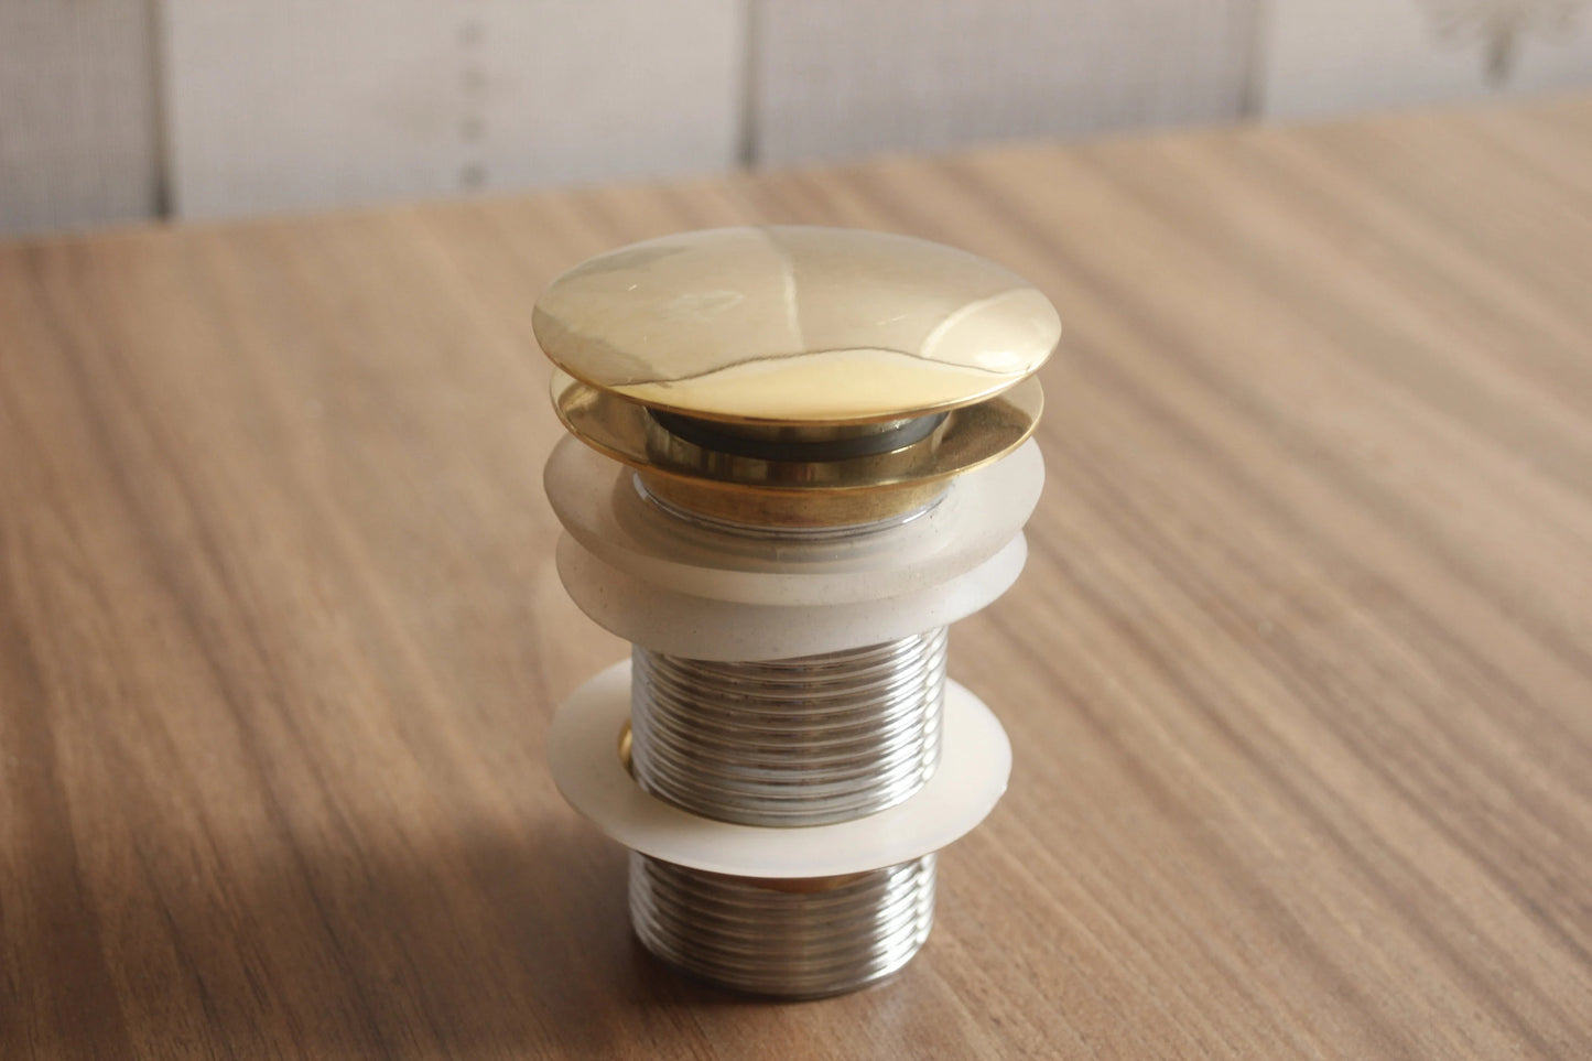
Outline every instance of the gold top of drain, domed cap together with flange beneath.
<path fill-rule="evenodd" d="M 557 277 L 532 323 L 559 417 L 656 495 L 818 526 L 911 508 L 1019 446 L 1060 336 L 992 261 L 804 226 L 621 247 Z"/>

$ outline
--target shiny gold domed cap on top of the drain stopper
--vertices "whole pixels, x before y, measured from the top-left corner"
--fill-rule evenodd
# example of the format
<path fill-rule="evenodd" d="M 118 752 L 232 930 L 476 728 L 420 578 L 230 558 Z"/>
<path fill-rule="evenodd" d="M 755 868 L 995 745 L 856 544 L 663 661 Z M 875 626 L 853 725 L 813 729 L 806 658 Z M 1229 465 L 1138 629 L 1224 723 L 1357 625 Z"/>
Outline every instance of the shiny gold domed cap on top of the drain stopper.
<path fill-rule="evenodd" d="M 720 228 L 632 244 L 554 280 L 532 325 L 575 379 L 710 421 L 861 424 L 990 398 L 1062 325 L 1033 285 L 909 236 Z"/>

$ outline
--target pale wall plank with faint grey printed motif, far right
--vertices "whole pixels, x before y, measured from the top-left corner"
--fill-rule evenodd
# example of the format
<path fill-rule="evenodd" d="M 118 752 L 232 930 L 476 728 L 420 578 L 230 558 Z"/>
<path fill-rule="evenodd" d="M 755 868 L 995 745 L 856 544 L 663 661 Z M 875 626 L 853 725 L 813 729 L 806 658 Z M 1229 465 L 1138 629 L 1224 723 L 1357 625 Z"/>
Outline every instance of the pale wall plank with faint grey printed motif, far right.
<path fill-rule="evenodd" d="M 1277 118 L 1592 86 L 1587 0 L 1270 0 L 1264 41 Z"/>

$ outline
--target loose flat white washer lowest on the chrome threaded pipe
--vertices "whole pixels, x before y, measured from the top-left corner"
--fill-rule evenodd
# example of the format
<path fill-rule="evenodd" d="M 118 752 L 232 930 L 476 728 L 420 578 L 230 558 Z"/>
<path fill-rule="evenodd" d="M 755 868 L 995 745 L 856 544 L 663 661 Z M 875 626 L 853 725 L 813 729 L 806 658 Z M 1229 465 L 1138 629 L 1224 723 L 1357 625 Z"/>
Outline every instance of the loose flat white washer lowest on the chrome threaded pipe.
<path fill-rule="evenodd" d="M 548 760 L 570 806 L 632 851 L 734 876 L 837 876 L 939 851 L 982 822 L 1006 792 L 1011 741 L 995 714 L 950 680 L 944 711 L 939 768 L 928 782 L 904 803 L 834 825 L 715 822 L 643 792 L 618 747 L 630 717 L 629 661 L 564 703 L 548 734 Z"/>

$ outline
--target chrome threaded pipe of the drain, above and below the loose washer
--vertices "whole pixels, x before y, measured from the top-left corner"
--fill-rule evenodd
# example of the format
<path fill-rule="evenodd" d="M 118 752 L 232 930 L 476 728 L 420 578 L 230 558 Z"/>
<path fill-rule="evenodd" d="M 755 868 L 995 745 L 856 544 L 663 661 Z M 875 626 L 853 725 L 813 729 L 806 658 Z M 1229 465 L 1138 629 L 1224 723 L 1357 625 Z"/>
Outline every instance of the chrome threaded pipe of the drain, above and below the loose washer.
<path fill-rule="evenodd" d="M 630 771 L 646 792 L 745 825 L 845 822 L 939 763 L 946 628 L 791 660 L 632 652 Z M 664 961 L 755 994 L 837 994 L 912 957 L 935 857 L 845 878 L 756 881 L 630 857 L 630 919 Z"/>

